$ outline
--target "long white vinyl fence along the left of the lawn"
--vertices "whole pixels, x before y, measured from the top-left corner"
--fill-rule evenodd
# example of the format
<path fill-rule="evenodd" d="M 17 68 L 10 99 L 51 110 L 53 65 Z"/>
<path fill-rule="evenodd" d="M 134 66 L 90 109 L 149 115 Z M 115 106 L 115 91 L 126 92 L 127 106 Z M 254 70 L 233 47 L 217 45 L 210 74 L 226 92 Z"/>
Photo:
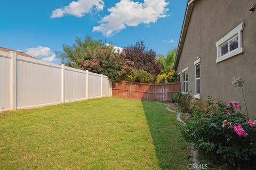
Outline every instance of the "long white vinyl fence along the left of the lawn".
<path fill-rule="evenodd" d="M 108 96 L 105 75 L 0 51 L 0 112 Z"/>

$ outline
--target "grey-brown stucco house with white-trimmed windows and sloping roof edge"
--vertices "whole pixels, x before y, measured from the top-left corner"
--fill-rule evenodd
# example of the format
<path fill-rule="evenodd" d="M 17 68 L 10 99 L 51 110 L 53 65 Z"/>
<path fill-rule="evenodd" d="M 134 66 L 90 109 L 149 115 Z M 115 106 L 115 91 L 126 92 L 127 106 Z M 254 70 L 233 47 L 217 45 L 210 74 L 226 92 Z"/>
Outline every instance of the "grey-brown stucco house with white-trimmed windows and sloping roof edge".
<path fill-rule="evenodd" d="M 255 6 L 255 0 L 188 1 L 174 63 L 182 92 L 237 100 L 244 112 L 241 88 L 231 85 L 231 78 L 242 77 L 249 115 L 256 118 Z"/>

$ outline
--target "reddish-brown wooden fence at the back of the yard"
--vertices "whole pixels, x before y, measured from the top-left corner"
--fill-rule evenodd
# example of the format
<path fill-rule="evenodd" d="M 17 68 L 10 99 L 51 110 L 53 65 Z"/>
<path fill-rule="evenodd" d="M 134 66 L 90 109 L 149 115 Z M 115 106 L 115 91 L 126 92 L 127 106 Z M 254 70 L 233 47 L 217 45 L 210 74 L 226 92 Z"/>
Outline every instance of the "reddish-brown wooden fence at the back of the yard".
<path fill-rule="evenodd" d="M 180 82 L 146 84 L 119 81 L 113 84 L 113 96 L 138 100 L 171 100 L 171 95 L 180 92 Z"/>

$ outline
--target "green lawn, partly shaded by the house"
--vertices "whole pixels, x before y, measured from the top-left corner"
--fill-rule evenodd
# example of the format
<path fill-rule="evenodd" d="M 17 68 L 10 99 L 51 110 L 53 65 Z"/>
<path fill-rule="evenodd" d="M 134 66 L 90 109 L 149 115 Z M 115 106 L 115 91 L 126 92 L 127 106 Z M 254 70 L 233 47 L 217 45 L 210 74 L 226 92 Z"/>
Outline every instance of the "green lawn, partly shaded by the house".
<path fill-rule="evenodd" d="M 165 107 L 111 97 L 0 113 L 0 169 L 186 169 Z"/>

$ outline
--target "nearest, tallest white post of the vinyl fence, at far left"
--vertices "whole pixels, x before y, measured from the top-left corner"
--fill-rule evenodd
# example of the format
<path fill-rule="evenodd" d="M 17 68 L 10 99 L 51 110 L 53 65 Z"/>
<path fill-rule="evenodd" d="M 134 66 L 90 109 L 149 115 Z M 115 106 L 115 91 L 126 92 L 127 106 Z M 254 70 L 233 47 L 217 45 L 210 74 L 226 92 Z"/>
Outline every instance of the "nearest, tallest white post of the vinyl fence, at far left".
<path fill-rule="evenodd" d="M 17 53 L 10 52 L 11 61 L 11 108 L 17 110 Z"/>

